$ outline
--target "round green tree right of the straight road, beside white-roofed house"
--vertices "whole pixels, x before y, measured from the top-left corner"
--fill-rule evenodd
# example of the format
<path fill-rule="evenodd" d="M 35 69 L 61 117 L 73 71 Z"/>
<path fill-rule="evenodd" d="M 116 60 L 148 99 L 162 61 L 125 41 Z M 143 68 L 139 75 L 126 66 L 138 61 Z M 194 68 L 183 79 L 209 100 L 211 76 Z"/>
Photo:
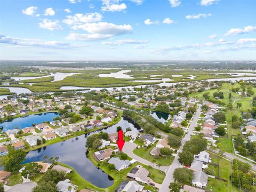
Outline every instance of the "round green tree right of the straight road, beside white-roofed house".
<path fill-rule="evenodd" d="M 182 185 L 190 185 L 193 179 L 193 170 L 187 169 L 186 167 L 175 169 L 173 177 Z"/>

